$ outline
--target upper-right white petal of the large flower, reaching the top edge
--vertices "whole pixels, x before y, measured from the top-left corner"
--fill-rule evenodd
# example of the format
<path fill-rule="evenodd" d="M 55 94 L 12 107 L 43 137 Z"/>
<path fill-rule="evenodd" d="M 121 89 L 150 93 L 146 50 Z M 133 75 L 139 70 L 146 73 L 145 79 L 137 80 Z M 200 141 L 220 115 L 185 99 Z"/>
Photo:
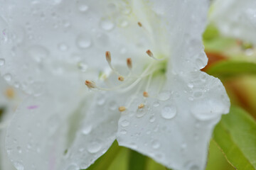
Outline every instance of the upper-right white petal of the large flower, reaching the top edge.
<path fill-rule="evenodd" d="M 168 39 L 169 72 L 191 72 L 206 66 L 201 35 L 206 26 L 209 1 L 150 0 L 152 11 L 159 17 L 157 23 Z M 163 45 L 161 41 L 157 44 Z M 165 42 L 164 42 L 165 43 Z"/>

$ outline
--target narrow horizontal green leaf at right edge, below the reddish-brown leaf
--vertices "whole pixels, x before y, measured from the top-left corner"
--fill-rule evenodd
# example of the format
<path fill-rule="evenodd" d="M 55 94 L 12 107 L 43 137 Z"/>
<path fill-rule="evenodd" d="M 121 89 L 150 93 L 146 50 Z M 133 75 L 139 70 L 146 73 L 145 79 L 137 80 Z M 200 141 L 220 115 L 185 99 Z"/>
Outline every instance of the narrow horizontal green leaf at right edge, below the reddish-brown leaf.
<path fill-rule="evenodd" d="M 256 75 L 256 64 L 229 60 L 214 64 L 206 72 L 220 79 L 241 75 Z"/>

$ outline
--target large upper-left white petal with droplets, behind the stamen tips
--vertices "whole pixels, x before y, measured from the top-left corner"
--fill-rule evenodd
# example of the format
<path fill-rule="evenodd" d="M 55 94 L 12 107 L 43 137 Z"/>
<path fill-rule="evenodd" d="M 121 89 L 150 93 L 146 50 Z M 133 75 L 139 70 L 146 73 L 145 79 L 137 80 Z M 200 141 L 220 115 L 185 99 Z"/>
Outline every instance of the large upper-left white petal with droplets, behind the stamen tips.
<path fill-rule="evenodd" d="M 38 95 L 49 75 L 104 71 L 107 50 L 113 62 L 146 56 L 150 43 L 131 8 L 120 1 L 1 0 L 0 72 L 9 84 Z"/>

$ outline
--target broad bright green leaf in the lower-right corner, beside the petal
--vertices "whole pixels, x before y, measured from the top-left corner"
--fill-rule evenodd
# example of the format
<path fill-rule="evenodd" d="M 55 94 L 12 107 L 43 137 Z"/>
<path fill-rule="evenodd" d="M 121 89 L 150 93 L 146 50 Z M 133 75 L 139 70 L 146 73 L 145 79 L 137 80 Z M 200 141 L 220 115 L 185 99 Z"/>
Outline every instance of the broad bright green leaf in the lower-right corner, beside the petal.
<path fill-rule="evenodd" d="M 213 139 L 236 169 L 256 169 L 256 122 L 246 111 L 231 107 L 216 125 Z"/>

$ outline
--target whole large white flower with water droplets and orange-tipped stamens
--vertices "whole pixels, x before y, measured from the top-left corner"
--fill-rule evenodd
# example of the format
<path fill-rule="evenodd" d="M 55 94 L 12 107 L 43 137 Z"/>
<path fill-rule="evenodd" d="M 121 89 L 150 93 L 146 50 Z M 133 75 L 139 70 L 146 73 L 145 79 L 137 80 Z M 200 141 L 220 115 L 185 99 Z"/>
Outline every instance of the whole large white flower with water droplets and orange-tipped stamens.
<path fill-rule="evenodd" d="M 9 1 L 1 11 L 0 71 L 31 94 L 6 137 L 17 169 L 85 169 L 115 139 L 164 166 L 204 169 L 230 106 L 200 71 L 208 1 Z"/>

